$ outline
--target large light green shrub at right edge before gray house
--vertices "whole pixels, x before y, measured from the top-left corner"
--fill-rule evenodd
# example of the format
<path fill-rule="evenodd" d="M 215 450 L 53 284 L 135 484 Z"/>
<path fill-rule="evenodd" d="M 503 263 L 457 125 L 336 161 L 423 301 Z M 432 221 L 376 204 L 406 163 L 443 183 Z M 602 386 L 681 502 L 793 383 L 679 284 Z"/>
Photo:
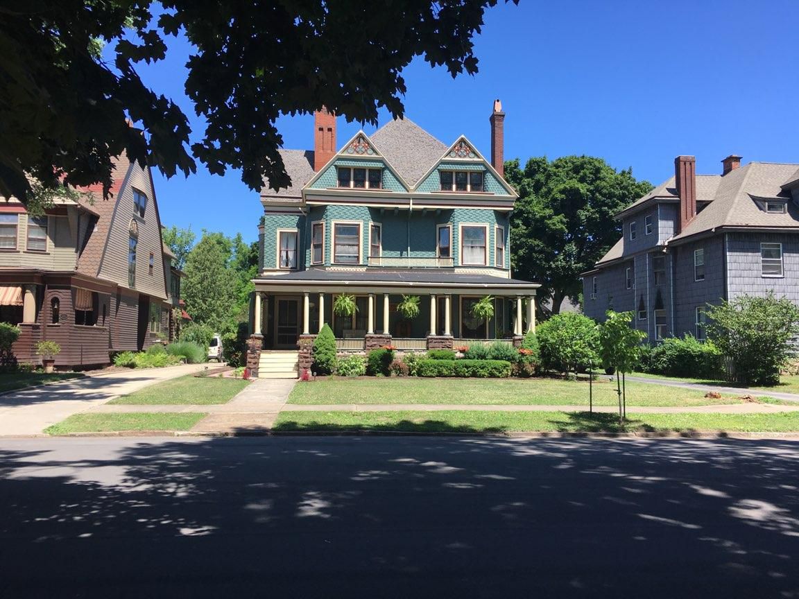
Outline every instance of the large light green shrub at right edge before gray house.
<path fill-rule="evenodd" d="M 721 306 L 709 306 L 710 339 L 733 361 L 741 383 L 771 385 L 780 381 L 780 369 L 793 356 L 793 338 L 799 335 L 799 308 L 773 292 L 765 297 L 740 296 Z"/>

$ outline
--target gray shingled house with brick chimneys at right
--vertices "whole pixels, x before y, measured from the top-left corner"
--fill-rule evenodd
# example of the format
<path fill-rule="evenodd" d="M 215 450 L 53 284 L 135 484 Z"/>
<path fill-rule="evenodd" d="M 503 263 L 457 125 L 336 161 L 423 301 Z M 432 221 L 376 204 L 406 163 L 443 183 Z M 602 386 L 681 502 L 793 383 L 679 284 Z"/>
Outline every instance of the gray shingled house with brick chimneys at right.
<path fill-rule="evenodd" d="M 773 291 L 799 303 L 799 164 L 723 161 L 697 175 L 694 157 L 617 215 L 622 239 L 582 275 L 584 311 L 634 311 L 650 342 L 705 338 L 706 303 Z"/>

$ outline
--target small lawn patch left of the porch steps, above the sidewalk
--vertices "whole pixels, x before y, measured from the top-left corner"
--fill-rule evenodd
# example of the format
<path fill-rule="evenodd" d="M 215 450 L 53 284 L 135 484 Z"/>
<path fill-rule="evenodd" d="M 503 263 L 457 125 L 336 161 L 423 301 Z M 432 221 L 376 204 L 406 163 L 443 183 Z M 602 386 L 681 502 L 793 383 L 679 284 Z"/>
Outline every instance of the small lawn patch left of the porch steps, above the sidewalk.
<path fill-rule="evenodd" d="M 242 379 L 188 375 L 145 387 L 130 395 L 122 395 L 109 403 L 127 406 L 228 403 L 248 384 L 248 381 Z"/>

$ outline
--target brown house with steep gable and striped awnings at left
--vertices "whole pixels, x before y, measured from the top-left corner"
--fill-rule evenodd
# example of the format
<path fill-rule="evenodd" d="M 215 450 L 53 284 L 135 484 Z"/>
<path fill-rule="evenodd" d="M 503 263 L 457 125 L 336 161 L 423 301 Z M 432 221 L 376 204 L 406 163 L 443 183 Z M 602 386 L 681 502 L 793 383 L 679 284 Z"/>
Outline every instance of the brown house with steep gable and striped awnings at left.
<path fill-rule="evenodd" d="M 126 157 L 115 163 L 106 200 L 91 188 L 37 219 L 0 199 L 0 321 L 22 330 L 20 363 L 38 363 L 42 339 L 61 345 L 62 367 L 106 364 L 112 352 L 168 339 L 173 273 L 153 178 Z"/>

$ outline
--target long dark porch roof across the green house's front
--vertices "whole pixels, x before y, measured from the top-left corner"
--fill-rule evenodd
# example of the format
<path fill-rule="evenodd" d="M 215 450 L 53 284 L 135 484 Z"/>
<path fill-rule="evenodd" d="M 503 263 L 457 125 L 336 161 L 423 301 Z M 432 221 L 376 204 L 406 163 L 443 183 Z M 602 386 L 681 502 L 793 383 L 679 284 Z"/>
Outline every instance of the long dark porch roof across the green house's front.
<path fill-rule="evenodd" d="M 256 289 L 261 291 L 319 291 L 321 288 L 332 292 L 367 288 L 368 292 L 378 292 L 380 288 L 398 292 L 417 289 L 419 292 L 475 292 L 477 290 L 507 292 L 511 294 L 535 295 L 541 287 L 538 283 L 518 279 L 505 279 L 499 276 L 480 275 L 467 272 L 431 272 L 429 269 L 403 269 L 401 271 L 332 271 L 311 268 L 305 271 L 287 272 L 284 275 L 263 276 L 253 279 Z"/>

